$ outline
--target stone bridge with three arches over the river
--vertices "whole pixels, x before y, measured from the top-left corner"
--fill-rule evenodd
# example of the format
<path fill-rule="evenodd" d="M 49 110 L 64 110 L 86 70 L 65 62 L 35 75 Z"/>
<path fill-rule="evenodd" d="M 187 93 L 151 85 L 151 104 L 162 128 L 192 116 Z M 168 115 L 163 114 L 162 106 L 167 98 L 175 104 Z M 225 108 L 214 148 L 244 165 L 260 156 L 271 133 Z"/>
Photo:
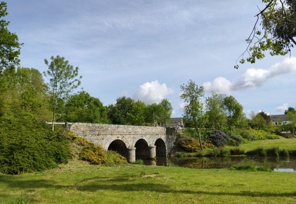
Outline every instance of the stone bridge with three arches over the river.
<path fill-rule="evenodd" d="M 166 156 L 171 151 L 176 130 L 165 127 L 72 123 L 70 131 L 79 137 L 117 151 L 129 162 Z"/>

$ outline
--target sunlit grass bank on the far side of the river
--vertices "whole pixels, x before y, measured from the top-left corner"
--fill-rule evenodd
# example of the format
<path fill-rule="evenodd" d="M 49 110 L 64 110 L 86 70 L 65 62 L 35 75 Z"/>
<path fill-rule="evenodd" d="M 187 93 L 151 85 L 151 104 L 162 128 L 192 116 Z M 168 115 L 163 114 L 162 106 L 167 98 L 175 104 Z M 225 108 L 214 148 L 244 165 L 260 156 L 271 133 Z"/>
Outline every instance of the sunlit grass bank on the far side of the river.
<path fill-rule="evenodd" d="M 245 151 L 249 151 L 252 149 L 256 149 L 258 147 L 280 147 L 281 149 L 296 149 L 296 138 L 286 139 L 284 137 L 280 137 L 280 139 L 276 140 L 255 140 L 252 142 L 248 142 L 245 144 L 239 145 L 238 148 L 243 149 Z M 227 149 L 233 149 L 236 147 L 233 146 L 226 146 Z"/>

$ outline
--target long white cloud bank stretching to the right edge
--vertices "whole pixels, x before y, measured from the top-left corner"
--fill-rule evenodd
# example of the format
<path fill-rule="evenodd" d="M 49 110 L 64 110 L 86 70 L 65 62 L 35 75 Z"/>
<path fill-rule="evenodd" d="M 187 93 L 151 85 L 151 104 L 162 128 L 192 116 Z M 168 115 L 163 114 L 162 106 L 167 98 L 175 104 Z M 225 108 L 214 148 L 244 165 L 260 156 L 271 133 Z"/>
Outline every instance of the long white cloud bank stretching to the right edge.
<path fill-rule="evenodd" d="M 218 92 L 229 94 L 232 91 L 242 89 L 260 87 L 268 79 L 274 78 L 278 75 L 295 72 L 296 71 L 296 58 L 286 58 L 283 62 L 274 64 L 268 69 L 255 69 L 249 68 L 236 82 L 230 82 L 226 78 L 218 77 L 213 83 L 205 82 L 203 86 L 207 92 Z"/>

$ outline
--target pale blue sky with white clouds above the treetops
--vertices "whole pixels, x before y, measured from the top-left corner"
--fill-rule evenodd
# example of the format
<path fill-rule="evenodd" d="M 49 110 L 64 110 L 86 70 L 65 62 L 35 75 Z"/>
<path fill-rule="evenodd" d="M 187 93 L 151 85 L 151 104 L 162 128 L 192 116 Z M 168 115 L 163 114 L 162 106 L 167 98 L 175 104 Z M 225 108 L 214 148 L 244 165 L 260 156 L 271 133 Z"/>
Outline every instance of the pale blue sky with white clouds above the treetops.
<path fill-rule="evenodd" d="M 21 66 L 42 72 L 44 59 L 65 57 L 104 105 L 124 95 L 146 104 L 167 98 L 180 117 L 180 85 L 191 79 L 207 95 L 233 95 L 246 113 L 296 107 L 295 49 L 290 58 L 267 55 L 233 68 L 261 1 L 7 2 L 9 30 L 24 43 Z"/>

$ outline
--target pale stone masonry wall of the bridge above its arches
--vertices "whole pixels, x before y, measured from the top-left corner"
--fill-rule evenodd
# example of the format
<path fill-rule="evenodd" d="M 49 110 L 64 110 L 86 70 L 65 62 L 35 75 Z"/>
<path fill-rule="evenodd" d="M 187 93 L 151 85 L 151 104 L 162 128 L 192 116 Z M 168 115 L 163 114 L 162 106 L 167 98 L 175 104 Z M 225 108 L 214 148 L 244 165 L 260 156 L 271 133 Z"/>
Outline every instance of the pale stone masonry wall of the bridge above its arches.
<path fill-rule="evenodd" d="M 161 138 L 170 152 L 174 145 L 176 135 L 167 135 L 165 127 L 73 123 L 70 131 L 97 145 L 108 149 L 114 140 L 122 140 L 127 148 L 134 148 L 139 139 L 144 139 L 149 146 L 154 146 L 157 139 Z"/>

